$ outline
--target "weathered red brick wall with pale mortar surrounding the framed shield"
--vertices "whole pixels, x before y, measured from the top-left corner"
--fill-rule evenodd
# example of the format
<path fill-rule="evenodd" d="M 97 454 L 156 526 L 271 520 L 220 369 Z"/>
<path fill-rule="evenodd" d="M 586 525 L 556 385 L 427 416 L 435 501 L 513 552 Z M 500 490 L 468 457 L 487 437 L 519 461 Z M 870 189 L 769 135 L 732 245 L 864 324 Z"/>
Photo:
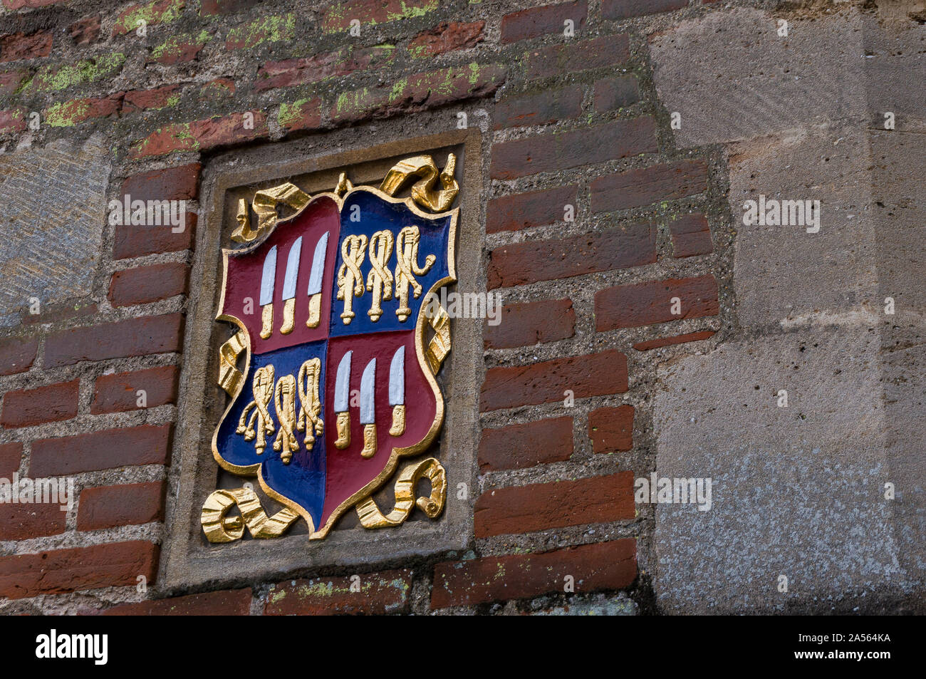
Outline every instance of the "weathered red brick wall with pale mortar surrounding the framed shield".
<path fill-rule="evenodd" d="M 106 224 L 92 292 L 38 314 L 23 300 L 3 329 L 0 472 L 68 475 L 79 497 L 0 506 L 2 610 L 652 610 L 653 513 L 632 498 L 654 468 L 649 386 L 658 361 L 723 332 L 732 236 L 720 153 L 674 147 L 647 36 L 663 13 L 710 8 L 534 5 L 3 0 L 0 143 L 98 135 L 107 198 L 184 199 L 190 215 L 182 233 Z M 423 110 L 450 129 L 472 100 L 491 140 L 487 289 L 506 306 L 484 330 L 471 548 L 361 571 L 359 594 L 355 571 L 159 591 L 209 154 Z"/>

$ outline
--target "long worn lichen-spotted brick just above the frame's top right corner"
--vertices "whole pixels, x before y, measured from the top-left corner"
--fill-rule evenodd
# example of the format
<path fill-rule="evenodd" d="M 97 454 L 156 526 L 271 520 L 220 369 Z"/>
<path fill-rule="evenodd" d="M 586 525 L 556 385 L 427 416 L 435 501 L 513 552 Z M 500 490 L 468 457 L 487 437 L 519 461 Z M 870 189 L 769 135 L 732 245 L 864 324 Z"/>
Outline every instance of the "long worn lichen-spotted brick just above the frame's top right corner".
<path fill-rule="evenodd" d="M 442 107 L 493 94 L 505 78 L 505 69 L 480 64 L 415 73 L 392 86 L 365 87 L 340 94 L 332 106 L 331 119 L 351 122 Z"/>

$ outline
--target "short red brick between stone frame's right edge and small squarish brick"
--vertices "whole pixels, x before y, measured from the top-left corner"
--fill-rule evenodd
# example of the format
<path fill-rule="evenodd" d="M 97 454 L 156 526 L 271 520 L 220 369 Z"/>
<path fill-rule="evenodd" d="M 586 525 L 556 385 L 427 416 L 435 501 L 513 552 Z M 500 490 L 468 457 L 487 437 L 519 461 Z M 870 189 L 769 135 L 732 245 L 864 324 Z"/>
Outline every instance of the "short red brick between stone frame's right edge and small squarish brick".
<path fill-rule="evenodd" d="M 482 473 L 524 469 L 536 464 L 561 462 L 572 455 L 572 418 L 509 424 L 500 429 L 483 429 L 479 442 L 479 470 Z"/>

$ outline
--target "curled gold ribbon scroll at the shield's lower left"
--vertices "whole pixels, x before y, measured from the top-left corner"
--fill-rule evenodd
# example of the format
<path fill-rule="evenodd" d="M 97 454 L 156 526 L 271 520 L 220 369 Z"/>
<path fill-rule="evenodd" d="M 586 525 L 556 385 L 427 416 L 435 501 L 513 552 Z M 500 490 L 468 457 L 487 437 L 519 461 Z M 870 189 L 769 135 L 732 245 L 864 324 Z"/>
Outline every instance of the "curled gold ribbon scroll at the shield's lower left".
<path fill-rule="evenodd" d="M 232 507 L 238 507 L 241 516 L 229 516 Z M 268 516 L 260 500 L 250 488 L 216 490 L 206 497 L 199 521 L 209 542 L 233 542 L 244 537 L 244 526 L 255 538 L 280 537 L 293 525 L 299 515 L 284 507 Z"/>

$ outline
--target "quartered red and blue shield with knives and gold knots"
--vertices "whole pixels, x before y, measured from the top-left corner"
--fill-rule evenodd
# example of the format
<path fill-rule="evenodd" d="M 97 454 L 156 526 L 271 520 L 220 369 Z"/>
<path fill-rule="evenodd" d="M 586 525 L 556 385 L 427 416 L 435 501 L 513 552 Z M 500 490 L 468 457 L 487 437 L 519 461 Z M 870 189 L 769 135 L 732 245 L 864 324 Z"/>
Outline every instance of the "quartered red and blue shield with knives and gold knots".
<path fill-rule="evenodd" d="M 456 281 L 457 212 L 426 214 L 410 197 L 348 184 L 256 245 L 223 250 L 217 318 L 239 327 L 246 353 L 213 455 L 256 474 L 312 538 L 441 427 L 425 305 Z"/>

